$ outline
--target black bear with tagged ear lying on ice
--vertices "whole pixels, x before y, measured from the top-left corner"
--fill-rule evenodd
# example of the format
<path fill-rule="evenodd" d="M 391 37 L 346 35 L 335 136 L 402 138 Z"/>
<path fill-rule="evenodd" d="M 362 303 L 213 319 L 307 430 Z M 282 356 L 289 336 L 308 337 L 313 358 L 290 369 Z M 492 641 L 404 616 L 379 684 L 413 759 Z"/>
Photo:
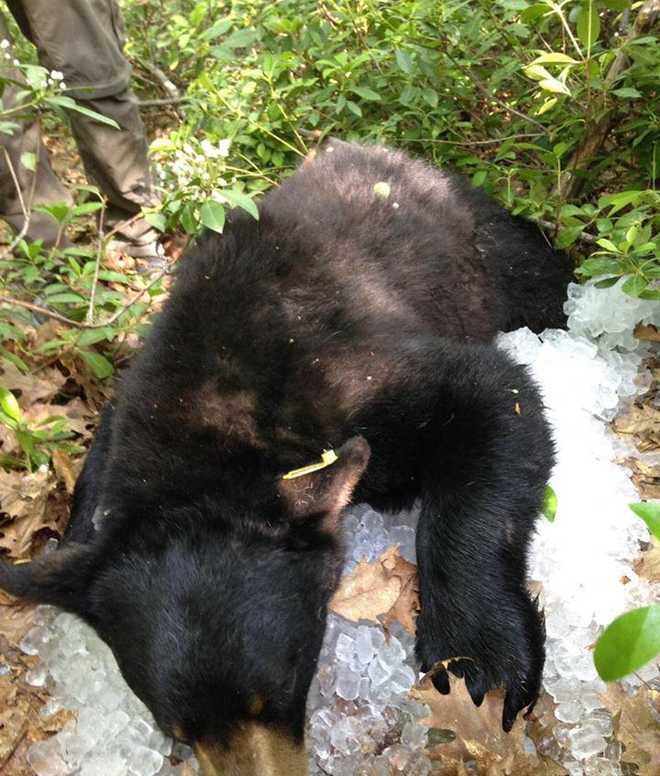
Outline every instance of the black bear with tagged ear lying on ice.
<path fill-rule="evenodd" d="M 562 325 L 568 260 L 379 147 L 329 142 L 259 212 L 181 263 L 64 541 L 0 565 L 0 586 L 90 623 L 206 772 L 274 758 L 295 776 L 342 511 L 420 499 L 418 658 L 467 658 L 452 667 L 476 704 L 504 687 L 509 730 L 543 667 L 525 565 L 553 447 L 526 370 L 490 343 Z M 284 476 L 324 449 L 334 462 Z"/>

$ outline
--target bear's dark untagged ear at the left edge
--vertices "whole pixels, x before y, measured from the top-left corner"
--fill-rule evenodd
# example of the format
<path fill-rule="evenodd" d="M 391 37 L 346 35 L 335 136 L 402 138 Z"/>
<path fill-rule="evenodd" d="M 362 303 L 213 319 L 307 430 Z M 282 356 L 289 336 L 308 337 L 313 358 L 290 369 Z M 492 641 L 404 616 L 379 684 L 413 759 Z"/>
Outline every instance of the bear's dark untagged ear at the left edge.
<path fill-rule="evenodd" d="M 0 588 L 17 598 L 85 617 L 94 565 L 92 549 L 71 542 L 31 563 L 0 561 Z"/>

